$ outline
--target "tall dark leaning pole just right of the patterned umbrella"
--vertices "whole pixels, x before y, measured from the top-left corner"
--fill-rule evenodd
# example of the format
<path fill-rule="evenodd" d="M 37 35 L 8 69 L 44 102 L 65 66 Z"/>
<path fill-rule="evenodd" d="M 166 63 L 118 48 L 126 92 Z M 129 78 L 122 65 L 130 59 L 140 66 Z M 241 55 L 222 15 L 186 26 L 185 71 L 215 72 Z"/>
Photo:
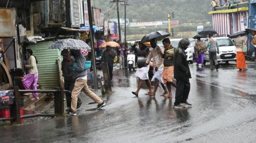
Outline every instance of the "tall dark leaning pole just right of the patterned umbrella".
<path fill-rule="evenodd" d="M 91 36 L 91 53 L 92 53 L 92 64 L 94 68 L 94 89 L 98 89 L 98 75 L 97 75 L 97 69 L 95 64 L 95 51 L 94 51 L 94 30 L 93 30 L 93 24 L 92 24 L 92 14 L 91 14 L 91 0 L 87 0 L 87 6 L 88 6 L 88 18 L 89 18 L 89 25 L 90 25 L 90 36 Z"/>

